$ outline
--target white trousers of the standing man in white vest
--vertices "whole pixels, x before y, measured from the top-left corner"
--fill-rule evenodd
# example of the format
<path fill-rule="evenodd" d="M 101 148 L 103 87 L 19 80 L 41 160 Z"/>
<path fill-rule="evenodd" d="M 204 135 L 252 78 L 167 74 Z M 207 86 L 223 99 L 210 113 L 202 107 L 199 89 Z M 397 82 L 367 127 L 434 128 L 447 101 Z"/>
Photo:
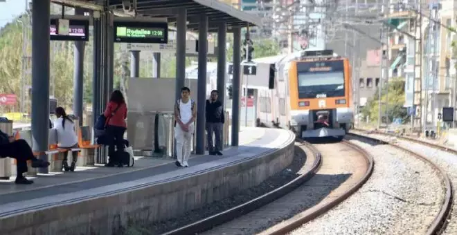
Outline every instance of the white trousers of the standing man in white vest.
<path fill-rule="evenodd" d="M 194 133 L 194 124 L 189 125 L 189 131 L 183 131 L 179 124 L 174 126 L 174 138 L 176 138 L 176 155 L 181 164 L 187 164 L 192 149 L 192 138 Z"/>

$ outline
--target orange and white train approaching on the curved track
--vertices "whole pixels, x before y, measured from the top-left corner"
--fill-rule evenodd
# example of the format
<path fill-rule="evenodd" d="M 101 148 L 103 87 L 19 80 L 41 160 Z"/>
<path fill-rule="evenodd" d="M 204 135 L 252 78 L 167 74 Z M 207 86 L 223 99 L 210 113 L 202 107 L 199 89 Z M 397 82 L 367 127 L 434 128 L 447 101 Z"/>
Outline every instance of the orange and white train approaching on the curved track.
<path fill-rule="evenodd" d="M 352 75 L 348 58 L 333 50 L 305 50 L 254 59 L 256 125 L 294 131 L 300 138 L 342 140 L 354 122 Z M 267 77 L 268 75 L 268 77 Z"/>

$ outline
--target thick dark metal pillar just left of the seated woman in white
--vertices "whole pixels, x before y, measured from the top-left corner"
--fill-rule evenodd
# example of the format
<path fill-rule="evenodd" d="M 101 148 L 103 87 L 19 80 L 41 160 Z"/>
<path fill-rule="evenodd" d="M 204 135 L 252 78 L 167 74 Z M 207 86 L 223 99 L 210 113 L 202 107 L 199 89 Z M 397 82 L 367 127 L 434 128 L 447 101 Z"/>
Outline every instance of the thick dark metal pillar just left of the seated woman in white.
<path fill-rule="evenodd" d="M 32 136 L 33 150 L 48 150 L 49 129 L 49 31 L 51 1 L 33 0 L 32 9 Z M 46 154 L 39 159 L 48 160 Z M 48 167 L 39 168 L 48 173 Z"/>

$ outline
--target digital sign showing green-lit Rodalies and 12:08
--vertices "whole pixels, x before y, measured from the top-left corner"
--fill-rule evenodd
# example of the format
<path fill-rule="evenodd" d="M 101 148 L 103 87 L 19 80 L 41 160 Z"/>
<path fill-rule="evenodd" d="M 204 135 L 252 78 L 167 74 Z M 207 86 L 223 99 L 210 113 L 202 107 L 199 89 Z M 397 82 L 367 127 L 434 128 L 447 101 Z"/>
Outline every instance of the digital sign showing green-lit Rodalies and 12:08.
<path fill-rule="evenodd" d="M 168 43 L 167 22 L 114 22 L 114 42 Z"/>

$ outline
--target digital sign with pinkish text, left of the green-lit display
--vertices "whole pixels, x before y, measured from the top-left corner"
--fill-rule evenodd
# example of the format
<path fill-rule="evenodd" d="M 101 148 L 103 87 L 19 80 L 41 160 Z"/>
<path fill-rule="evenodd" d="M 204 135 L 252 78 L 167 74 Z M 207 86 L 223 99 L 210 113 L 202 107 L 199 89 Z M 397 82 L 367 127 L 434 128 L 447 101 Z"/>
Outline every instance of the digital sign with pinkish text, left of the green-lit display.
<path fill-rule="evenodd" d="M 68 35 L 57 34 L 57 19 L 51 19 L 49 35 L 55 41 L 89 41 L 89 21 L 70 19 Z"/>

